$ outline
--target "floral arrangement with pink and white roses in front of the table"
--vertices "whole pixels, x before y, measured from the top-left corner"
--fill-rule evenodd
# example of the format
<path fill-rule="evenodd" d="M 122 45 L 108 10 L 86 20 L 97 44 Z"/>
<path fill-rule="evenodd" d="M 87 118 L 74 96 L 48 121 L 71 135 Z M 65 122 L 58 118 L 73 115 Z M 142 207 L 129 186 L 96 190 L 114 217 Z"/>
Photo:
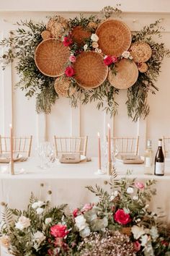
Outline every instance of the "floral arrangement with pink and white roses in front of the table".
<path fill-rule="evenodd" d="M 4 204 L 1 245 L 12 255 L 170 255 L 170 230 L 148 210 L 154 181 L 109 182 L 111 194 L 87 187 L 97 203 L 66 214 L 32 195 L 27 210 Z"/>

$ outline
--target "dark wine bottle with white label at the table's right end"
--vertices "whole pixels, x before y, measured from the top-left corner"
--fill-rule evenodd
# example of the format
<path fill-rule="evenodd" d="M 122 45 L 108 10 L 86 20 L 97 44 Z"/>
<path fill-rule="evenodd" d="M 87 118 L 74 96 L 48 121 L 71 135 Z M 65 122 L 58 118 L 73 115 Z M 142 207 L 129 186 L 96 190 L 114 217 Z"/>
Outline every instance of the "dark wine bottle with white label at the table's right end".
<path fill-rule="evenodd" d="M 164 153 L 162 151 L 162 140 L 158 140 L 158 150 L 155 157 L 155 170 L 154 174 L 158 176 L 164 175 Z"/>

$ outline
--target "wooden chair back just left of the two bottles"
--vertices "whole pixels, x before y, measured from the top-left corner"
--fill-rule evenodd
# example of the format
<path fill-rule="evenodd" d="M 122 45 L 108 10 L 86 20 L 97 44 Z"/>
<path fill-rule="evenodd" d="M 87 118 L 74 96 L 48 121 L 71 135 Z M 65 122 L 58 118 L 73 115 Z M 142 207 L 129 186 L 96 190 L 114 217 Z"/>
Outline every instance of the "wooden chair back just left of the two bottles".
<path fill-rule="evenodd" d="M 137 137 L 112 137 L 114 151 L 120 154 L 138 155 L 139 136 Z"/>

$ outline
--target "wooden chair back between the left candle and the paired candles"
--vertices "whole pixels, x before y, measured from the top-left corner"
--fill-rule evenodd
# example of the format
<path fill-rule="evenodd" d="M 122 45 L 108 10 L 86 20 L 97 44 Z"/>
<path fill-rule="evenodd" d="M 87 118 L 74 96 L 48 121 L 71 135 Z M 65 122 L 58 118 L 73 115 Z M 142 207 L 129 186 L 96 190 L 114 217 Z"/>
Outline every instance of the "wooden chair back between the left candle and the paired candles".
<path fill-rule="evenodd" d="M 55 140 L 55 153 L 80 153 L 86 155 L 88 137 L 57 137 Z"/>

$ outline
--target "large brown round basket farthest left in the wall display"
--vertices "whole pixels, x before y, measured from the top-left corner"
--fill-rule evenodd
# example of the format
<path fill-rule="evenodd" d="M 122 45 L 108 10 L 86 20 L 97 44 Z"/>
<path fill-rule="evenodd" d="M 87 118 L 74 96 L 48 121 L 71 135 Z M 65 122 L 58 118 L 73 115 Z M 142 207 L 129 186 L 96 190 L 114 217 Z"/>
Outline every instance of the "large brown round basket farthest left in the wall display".
<path fill-rule="evenodd" d="M 58 77 L 64 73 L 70 56 L 69 48 L 54 38 L 43 40 L 35 50 L 35 64 L 42 74 Z"/>

